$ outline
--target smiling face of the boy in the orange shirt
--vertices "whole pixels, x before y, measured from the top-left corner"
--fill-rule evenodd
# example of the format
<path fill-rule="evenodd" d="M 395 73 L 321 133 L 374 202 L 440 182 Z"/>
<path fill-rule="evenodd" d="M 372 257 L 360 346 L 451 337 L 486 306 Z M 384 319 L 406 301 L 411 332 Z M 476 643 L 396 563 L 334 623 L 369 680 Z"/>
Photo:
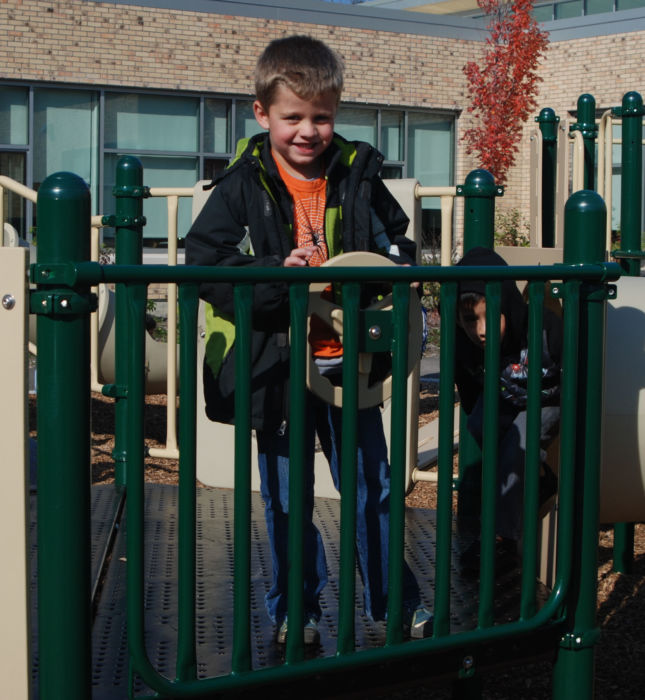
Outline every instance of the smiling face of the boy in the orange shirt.
<path fill-rule="evenodd" d="M 273 155 L 291 175 L 301 178 L 321 174 L 320 157 L 334 135 L 336 95 L 327 92 L 303 100 L 284 85 L 278 85 L 268 109 L 257 100 L 253 111 L 258 124 L 269 130 Z"/>

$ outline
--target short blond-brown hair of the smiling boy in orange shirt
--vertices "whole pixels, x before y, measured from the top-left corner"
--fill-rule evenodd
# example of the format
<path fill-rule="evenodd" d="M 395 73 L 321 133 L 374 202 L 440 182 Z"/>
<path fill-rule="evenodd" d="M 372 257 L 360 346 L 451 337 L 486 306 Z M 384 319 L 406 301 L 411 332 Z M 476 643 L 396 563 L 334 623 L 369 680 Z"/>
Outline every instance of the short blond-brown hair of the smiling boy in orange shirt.
<path fill-rule="evenodd" d="M 326 44 L 310 36 L 275 39 L 255 67 L 255 95 L 268 109 L 279 85 L 300 99 L 311 100 L 331 92 L 337 102 L 343 90 L 343 61 Z"/>

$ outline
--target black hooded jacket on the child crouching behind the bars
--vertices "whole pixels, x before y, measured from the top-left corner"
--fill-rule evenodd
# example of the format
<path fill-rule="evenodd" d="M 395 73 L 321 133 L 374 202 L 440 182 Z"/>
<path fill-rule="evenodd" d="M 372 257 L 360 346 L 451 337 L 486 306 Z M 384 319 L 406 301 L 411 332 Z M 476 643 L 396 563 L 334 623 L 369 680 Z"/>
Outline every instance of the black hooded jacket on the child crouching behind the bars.
<path fill-rule="evenodd" d="M 488 248 L 469 250 L 458 266 L 501 266 L 505 260 Z M 464 280 L 458 295 L 474 292 L 485 296 L 483 280 Z M 500 396 L 503 401 L 521 410 L 526 407 L 528 377 L 528 305 L 514 280 L 502 281 L 501 313 L 506 330 L 500 347 Z M 560 367 L 562 357 L 562 321 L 549 309 L 543 314 L 542 333 L 542 405 L 557 405 L 560 400 Z M 484 390 L 484 350 L 475 345 L 457 325 L 455 382 L 461 405 L 470 414 Z"/>

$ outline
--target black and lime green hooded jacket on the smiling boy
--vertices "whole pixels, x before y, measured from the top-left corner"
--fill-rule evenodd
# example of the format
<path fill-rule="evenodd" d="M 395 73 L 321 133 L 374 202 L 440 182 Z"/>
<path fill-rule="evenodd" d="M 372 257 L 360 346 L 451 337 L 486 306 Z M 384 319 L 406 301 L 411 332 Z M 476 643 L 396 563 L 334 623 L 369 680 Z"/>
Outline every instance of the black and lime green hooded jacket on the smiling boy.
<path fill-rule="evenodd" d="M 369 144 L 335 135 L 324 154 L 327 179 L 325 238 L 329 257 L 350 251 L 414 262 L 415 244 L 405 237 L 408 218 L 378 172 L 382 156 Z M 238 144 L 231 165 L 186 238 L 189 265 L 281 267 L 294 248 L 293 203 L 271 155 L 267 134 Z M 234 416 L 235 327 L 233 285 L 205 283 L 204 395 L 211 420 Z M 251 348 L 251 421 L 255 429 L 284 425 L 288 417 L 288 285 L 254 285 Z"/>

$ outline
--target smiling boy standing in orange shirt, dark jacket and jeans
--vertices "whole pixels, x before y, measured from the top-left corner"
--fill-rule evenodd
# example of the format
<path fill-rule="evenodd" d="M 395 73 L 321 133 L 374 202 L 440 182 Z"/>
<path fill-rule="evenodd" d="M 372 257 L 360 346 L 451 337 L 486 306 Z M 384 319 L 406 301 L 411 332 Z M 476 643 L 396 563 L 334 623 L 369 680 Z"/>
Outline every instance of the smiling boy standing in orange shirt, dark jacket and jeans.
<path fill-rule="evenodd" d="M 369 250 L 400 263 L 414 261 L 405 237 L 408 219 L 378 176 L 382 157 L 371 146 L 334 134 L 343 87 L 338 56 L 310 37 L 278 39 L 264 50 L 255 73 L 253 109 L 268 131 L 238 144 L 229 168 L 186 240 L 186 262 L 199 265 L 302 267 L 341 252 Z M 232 286 L 203 285 L 207 311 L 204 391 L 212 420 L 232 422 L 235 374 Z M 289 476 L 289 303 L 282 283 L 255 286 L 252 424 L 271 546 L 273 580 L 266 596 L 276 640 L 287 635 L 287 522 Z M 319 324 L 311 349 L 325 371 L 338 372 L 342 346 Z M 330 369 L 331 367 L 331 369 Z M 320 593 L 327 564 L 312 523 L 315 435 L 337 488 L 340 410 L 307 392 L 304 640 L 319 641 Z M 389 521 L 389 464 L 378 407 L 358 416 L 357 555 L 367 615 L 385 618 Z M 423 636 L 429 613 L 417 583 L 404 570 L 404 603 L 411 636 Z M 291 623 L 291 621 L 290 621 Z"/>

